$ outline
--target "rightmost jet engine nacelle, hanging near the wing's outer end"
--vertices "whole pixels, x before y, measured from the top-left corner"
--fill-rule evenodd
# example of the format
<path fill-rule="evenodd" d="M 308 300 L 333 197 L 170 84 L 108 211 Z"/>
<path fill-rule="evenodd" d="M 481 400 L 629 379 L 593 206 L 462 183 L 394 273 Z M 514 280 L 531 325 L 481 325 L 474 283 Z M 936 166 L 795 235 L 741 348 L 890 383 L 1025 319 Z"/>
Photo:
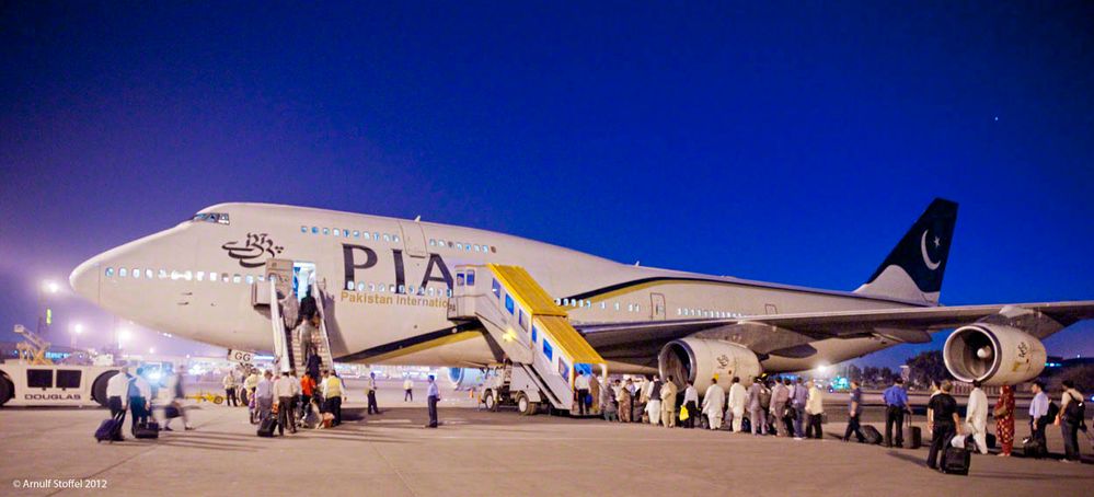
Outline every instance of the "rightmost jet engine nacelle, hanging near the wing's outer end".
<path fill-rule="evenodd" d="M 955 330 L 946 338 L 942 357 L 960 381 L 1013 385 L 1037 378 L 1048 354 L 1039 339 L 1018 328 L 976 323 Z"/>

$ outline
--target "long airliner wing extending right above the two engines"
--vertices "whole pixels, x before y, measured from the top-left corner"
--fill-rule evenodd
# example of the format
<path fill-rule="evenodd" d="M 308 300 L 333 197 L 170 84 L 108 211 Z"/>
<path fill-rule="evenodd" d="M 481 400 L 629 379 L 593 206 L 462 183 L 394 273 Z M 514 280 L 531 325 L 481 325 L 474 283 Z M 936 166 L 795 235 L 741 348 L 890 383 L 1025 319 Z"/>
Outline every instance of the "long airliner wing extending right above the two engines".
<path fill-rule="evenodd" d="M 1030 312 L 1032 311 L 1032 312 Z M 1094 301 L 954 305 L 806 312 L 736 319 L 575 324 L 604 357 L 656 356 L 668 342 L 693 334 L 734 336 L 758 354 L 791 350 L 825 338 L 884 336 L 894 342 L 930 342 L 929 332 L 975 323 L 994 314 L 1026 319 L 1022 326 L 1045 338 L 1078 321 L 1094 319 Z M 744 339 L 741 337 L 744 336 Z"/>

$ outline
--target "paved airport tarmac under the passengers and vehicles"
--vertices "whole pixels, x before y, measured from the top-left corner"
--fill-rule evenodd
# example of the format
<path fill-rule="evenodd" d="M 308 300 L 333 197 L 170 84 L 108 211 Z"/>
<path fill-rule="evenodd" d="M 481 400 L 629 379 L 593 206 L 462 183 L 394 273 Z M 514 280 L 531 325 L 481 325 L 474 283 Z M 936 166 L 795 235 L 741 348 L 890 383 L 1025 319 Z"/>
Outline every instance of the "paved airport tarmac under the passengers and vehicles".
<path fill-rule="evenodd" d="M 445 392 L 442 426 L 426 429 L 424 390 L 415 393 L 403 403 L 398 388 L 381 389 L 375 416 L 350 398 L 343 426 L 274 439 L 256 437 L 242 407 L 209 403 L 188 411 L 193 431 L 117 443 L 92 437 L 102 409 L 0 408 L 0 495 L 1030 496 L 1086 495 L 1094 485 L 1082 435 L 1086 464 L 975 455 L 969 476 L 943 475 L 924 466 L 925 447 L 838 440 L 844 407 L 834 400 L 826 439 L 797 441 L 490 413 L 467 392 Z M 880 411 L 868 408 L 866 421 L 883 428 Z M 1020 420 L 1017 438 L 1025 435 Z M 1059 429 L 1048 435 L 1060 452 Z M 43 488 L 26 488 L 34 485 Z"/>

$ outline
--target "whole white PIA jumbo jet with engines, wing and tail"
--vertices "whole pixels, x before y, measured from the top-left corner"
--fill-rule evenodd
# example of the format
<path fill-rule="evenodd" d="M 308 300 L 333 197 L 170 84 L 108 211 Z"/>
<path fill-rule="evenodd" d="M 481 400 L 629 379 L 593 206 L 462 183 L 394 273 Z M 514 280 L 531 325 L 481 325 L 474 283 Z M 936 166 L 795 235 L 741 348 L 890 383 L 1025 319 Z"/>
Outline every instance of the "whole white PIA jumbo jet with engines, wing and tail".
<path fill-rule="evenodd" d="M 703 392 L 729 375 L 748 383 L 954 330 L 944 357 L 956 379 L 1032 380 L 1045 366 L 1041 339 L 1094 317 L 1094 301 L 941 305 L 956 220 L 956 203 L 934 199 L 874 274 L 842 291 L 621 264 L 419 219 L 231 203 L 88 259 L 70 284 L 149 328 L 270 350 L 270 313 L 253 289 L 272 261 L 291 261 L 292 294 L 313 282 L 324 293 L 336 361 L 471 368 L 506 354 L 483 323 L 450 317 L 461 268 L 518 266 L 614 373 L 672 374 Z"/>

